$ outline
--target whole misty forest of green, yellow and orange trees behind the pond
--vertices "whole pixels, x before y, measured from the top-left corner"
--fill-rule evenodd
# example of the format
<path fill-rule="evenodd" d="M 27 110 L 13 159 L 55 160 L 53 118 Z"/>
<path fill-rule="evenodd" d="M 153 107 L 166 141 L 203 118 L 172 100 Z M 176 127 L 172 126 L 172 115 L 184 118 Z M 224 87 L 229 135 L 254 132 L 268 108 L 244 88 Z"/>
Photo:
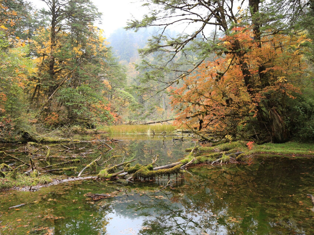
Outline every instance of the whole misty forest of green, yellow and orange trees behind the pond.
<path fill-rule="evenodd" d="M 172 118 L 208 141 L 313 141 L 314 1 L 148 0 L 108 38 L 91 1 L 41 1 L 0 1 L 2 142 Z"/>

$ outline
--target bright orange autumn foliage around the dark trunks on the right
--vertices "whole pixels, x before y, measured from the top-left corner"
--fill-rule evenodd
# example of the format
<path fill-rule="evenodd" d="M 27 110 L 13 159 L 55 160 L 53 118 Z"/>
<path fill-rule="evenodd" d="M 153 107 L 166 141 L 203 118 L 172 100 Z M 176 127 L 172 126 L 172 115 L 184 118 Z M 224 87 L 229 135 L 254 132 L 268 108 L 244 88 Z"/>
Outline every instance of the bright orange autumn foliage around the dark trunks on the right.
<path fill-rule="evenodd" d="M 221 39 L 214 61 L 202 63 L 183 79 L 181 88 L 172 88 L 176 123 L 220 136 L 236 136 L 268 109 L 280 112 L 284 102 L 300 92 L 297 84 L 305 67 L 305 41 L 302 35 L 264 36 L 260 46 L 252 29 L 234 28 Z"/>

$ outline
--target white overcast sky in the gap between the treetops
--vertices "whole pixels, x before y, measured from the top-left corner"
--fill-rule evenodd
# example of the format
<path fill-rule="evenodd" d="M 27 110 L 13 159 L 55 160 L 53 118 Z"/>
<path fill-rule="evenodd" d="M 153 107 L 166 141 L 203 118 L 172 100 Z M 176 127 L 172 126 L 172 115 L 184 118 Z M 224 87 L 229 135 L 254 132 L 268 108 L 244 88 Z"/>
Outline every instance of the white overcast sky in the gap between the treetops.
<path fill-rule="evenodd" d="M 108 37 L 114 30 L 120 27 L 126 26 L 128 19 L 131 19 L 132 15 L 137 19 L 140 19 L 145 14 L 145 8 L 141 7 L 143 1 L 141 0 L 91 0 L 95 6 L 98 7 L 98 11 L 102 15 L 102 24 L 98 25 L 105 31 L 106 37 Z M 36 8 L 43 8 L 46 3 L 41 0 L 30 0 Z"/>

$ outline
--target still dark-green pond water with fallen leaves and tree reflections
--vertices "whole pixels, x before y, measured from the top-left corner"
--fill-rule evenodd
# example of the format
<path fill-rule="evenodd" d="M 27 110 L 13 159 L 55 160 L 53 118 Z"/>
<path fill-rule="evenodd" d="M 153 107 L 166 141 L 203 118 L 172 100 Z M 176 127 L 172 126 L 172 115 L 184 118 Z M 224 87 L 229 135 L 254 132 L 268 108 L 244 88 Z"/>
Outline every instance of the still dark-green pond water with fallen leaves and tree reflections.
<path fill-rule="evenodd" d="M 157 154 L 158 165 L 175 162 L 194 146 L 188 137 L 184 142 L 171 137 L 114 138 L 122 141 L 108 154 L 137 158 L 141 164 Z M 76 145 L 73 151 L 60 151 L 62 157 L 76 155 L 88 164 L 98 154 L 89 142 Z M 51 145 L 52 155 L 58 148 Z M 313 206 L 306 196 L 314 194 L 313 164 L 314 158 L 261 155 L 243 165 L 198 166 L 189 168 L 184 178 L 171 177 L 173 188 L 161 191 L 167 177 L 3 191 L 0 234 L 314 234 Z M 86 196 L 89 192 L 112 196 L 94 201 Z M 25 205 L 8 209 L 19 204 Z"/>

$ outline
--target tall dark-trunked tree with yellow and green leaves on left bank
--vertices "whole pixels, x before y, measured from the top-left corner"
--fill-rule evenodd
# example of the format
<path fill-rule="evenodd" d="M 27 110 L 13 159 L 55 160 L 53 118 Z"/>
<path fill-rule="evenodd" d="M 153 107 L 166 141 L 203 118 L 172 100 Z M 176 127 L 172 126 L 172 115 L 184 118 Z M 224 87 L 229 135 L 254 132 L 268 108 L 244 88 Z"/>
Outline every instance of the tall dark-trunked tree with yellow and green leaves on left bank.
<path fill-rule="evenodd" d="M 94 26 L 100 13 L 89 1 L 45 2 L 50 27 L 39 28 L 32 41 L 38 63 L 29 90 L 32 109 L 51 125 L 111 120 L 108 79 L 122 81 L 123 72 L 111 68 L 110 49 Z"/>

